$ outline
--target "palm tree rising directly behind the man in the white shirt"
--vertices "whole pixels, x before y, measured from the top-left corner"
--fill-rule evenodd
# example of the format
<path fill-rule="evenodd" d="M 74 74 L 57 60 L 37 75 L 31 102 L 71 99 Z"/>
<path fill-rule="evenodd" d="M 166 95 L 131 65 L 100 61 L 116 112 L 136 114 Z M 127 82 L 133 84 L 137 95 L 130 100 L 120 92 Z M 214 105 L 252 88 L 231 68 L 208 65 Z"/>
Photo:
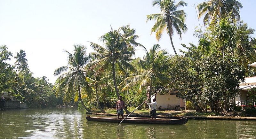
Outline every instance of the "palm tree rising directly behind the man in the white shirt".
<path fill-rule="evenodd" d="M 143 60 L 139 60 L 138 62 L 143 72 L 140 75 L 127 77 L 121 84 L 129 81 L 129 83 L 123 87 L 122 90 L 124 91 L 140 82 L 139 91 L 149 86 L 149 97 L 151 97 L 152 84 L 156 82 L 156 80 L 164 81 L 169 79 L 169 76 L 164 74 L 164 70 L 166 70 L 168 66 L 163 66 L 164 55 L 167 54 L 167 52 L 160 50 L 160 45 L 158 44 L 155 44 L 149 52 L 145 47 L 144 49 L 146 50 L 146 56 L 144 56 Z M 151 102 L 151 100 L 149 101 Z"/>

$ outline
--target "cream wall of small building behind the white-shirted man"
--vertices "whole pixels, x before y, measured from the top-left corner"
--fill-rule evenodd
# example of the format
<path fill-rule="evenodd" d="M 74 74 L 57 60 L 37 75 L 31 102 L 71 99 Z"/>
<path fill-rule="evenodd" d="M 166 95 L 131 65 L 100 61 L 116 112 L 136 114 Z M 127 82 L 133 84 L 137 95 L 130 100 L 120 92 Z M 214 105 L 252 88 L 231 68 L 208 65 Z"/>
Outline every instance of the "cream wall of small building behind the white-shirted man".
<path fill-rule="evenodd" d="M 161 109 L 175 110 L 185 107 L 185 101 L 183 101 L 183 99 L 179 99 L 176 95 L 156 94 L 156 102 L 157 108 L 161 106 Z"/>

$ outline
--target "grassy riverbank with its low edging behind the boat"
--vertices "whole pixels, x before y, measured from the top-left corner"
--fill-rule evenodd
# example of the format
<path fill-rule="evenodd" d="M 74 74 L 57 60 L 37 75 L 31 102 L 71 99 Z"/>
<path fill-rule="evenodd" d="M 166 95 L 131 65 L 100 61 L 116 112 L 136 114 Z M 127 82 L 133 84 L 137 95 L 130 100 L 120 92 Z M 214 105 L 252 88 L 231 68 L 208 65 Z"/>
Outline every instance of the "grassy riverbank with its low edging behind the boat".
<path fill-rule="evenodd" d="M 132 110 L 128 109 L 130 112 Z M 86 114 L 117 116 L 115 109 L 106 109 L 107 113 L 100 111 L 86 112 Z M 195 111 L 157 111 L 156 118 L 172 118 L 177 119 L 181 117 L 188 117 L 196 120 L 256 120 L 256 117 L 242 117 L 242 116 L 222 116 L 214 112 L 195 112 Z M 228 115 L 228 114 L 226 114 Z M 127 114 L 124 114 L 127 116 Z M 149 110 L 138 110 L 130 115 L 131 117 L 150 117 Z"/>

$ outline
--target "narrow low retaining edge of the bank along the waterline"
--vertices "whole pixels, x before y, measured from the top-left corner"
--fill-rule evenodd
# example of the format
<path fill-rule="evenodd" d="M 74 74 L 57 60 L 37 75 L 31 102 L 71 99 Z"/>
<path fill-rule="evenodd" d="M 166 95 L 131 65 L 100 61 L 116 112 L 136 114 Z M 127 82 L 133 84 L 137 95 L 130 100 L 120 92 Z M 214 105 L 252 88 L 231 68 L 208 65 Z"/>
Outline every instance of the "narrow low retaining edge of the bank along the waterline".
<path fill-rule="evenodd" d="M 99 113 L 99 112 L 86 112 L 86 114 L 94 114 L 94 115 L 106 115 L 106 116 L 117 116 L 117 114 L 111 113 Z M 128 114 L 124 114 L 124 117 L 128 116 Z M 144 114 L 131 114 L 131 117 L 150 117 L 150 115 Z M 239 117 L 239 116 L 166 116 L 166 115 L 157 115 L 156 118 L 172 118 L 178 119 L 182 117 L 188 117 L 188 119 L 194 120 L 256 120 L 256 117 Z"/>

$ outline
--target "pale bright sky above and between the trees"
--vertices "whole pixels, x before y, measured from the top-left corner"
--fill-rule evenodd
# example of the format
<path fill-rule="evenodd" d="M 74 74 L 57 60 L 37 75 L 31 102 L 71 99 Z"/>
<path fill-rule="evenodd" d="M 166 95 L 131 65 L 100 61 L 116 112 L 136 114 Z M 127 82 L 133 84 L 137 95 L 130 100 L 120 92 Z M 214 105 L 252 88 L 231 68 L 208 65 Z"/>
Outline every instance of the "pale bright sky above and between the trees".
<path fill-rule="evenodd" d="M 188 31 L 173 36 L 176 51 L 186 50 L 180 44 L 198 43 L 193 36 L 194 28 L 203 25 L 198 23 L 197 5 L 205 0 L 185 0 L 187 7 L 182 7 L 187 13 L 186 25 Z M 176 0 L 176 2 L 178 2 Z M 241 19 L 248 26 L 256 29 L 254 0 L 240 0 L 244 8 L 240 11 Z M 130 24 L 136 29 L 140 42 L 148 50 L 159 44 L 169 54 L 174 54 L 167 34 L 157 41 L 155 34 L 151 35 L 151 27 L 155 21 L 148 21 L 147 15 L 159 13 L 158 7 L 152 7 L 152 0 L 0 0 L 0 45 L 7 45 L 8 50 L 17 55 L 24 50 L 28 66 L 34 77 L 46 76 L 54 83 L 54 70 L 67 66 L 68 55 L 63 51 L 72 52 L 74 44 L 87 47 L 87 52 L 93 52 L 89 42 L 102 45 L 99 37 L 113 29 Z M 255 37 L 255 35 L 254 35 Z M 137 48 L 136 58 L 143 57 L 145 51 Z M 14 64 L 15 59 L 9 61 Z"/>

